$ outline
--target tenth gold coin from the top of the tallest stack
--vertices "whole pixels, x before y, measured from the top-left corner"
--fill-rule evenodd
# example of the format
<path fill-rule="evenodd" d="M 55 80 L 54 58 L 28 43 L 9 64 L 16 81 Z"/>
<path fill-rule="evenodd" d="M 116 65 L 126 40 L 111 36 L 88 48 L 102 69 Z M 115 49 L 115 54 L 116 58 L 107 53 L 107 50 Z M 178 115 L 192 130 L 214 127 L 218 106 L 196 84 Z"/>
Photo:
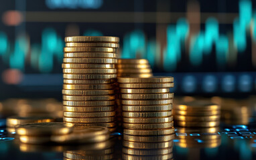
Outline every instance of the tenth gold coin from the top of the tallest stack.
<path fill-rule="evenodd" d="M 103 84 L 103 85 L 63 85 L 63 89 L 74 89 L 74 90 L 82 90 L 82 89 L 114 89 L 114 84 Z"/>

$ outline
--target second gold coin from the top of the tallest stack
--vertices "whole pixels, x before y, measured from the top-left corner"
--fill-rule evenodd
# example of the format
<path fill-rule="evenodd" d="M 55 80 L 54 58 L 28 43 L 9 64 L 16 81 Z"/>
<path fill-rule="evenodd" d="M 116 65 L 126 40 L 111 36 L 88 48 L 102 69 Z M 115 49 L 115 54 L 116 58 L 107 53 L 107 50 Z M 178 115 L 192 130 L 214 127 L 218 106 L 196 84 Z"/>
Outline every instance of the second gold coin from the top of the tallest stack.
<path fill-rule="evenodd" d="M 119 48 L 118 43 L 66 43 L 66 47 L 110 47 Z"/>

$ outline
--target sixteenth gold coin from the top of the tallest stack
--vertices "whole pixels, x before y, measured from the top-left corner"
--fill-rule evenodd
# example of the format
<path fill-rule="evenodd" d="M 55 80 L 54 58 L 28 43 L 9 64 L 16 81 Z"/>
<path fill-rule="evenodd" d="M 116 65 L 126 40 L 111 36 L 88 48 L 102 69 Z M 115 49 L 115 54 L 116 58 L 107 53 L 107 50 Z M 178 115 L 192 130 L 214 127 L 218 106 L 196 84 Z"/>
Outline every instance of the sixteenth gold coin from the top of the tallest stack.
<path fill-rule="evenodd" d="M 63 117 L 64 122 L 70 123 L 107 123 L 115 121 L 115 117 L 100 117 L 100 118 L 70 118 Z"/>

